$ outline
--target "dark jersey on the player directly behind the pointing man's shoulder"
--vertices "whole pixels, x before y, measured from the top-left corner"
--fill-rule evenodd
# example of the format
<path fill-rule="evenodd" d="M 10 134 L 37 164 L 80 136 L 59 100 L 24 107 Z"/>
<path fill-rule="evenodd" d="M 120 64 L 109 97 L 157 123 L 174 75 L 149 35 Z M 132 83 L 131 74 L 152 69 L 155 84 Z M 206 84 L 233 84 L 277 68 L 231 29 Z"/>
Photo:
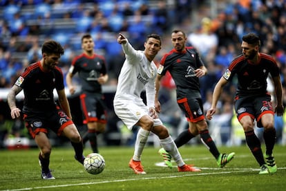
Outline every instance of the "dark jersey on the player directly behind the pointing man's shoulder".
<path fill-rule="evenodd" d="M 177 87 L 177 99 L 191 97 L 201 98 L 199 78 L 195 70 L 204 66 L 195 48 L 189 46 L 180 53 L 171 50 L 166 53 L 161 61 L 158 73 L 165 75 L 169 71 Z"/>

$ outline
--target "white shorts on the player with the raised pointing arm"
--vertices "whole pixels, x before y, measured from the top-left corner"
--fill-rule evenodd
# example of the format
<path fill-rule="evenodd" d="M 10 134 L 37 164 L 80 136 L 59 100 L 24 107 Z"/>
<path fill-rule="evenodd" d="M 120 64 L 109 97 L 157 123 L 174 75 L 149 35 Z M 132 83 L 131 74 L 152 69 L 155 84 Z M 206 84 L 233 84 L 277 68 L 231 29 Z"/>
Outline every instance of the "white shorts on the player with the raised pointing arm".
<path fill-rule="evenodd" d="M 143 101 L 133 100 L 114 100 L 113 101 L 115 114 L 120 118 L 128 129 L 132 127 L 142 118 L 142 116 L 149 115 L 149 107 Z M 157 118 L 153 120 L 154 127 L 162 125 L 162 121 Z"/>

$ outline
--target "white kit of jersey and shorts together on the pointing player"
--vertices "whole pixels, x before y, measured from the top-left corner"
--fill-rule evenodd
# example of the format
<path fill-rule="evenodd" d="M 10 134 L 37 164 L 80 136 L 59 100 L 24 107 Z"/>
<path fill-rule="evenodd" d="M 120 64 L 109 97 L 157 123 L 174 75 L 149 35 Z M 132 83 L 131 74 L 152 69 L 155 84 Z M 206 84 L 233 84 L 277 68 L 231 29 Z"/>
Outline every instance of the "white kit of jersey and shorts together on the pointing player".
<path fill-rule="evenodd" d="M 144 51 L 136 51 L 128 42 L 122 44 L 126 60 L 120 71 L 117 91 L 113 100 L 116 115 L 131 129 L 140 118 L 149 115 L 149 107 L 155 106 L 155 78 L 157 67 L 149 62 Z M 147 105 L 140 98 L 146 89 Z M 162 125 L 159 118 L 153 120 L 154 126 Z"/>

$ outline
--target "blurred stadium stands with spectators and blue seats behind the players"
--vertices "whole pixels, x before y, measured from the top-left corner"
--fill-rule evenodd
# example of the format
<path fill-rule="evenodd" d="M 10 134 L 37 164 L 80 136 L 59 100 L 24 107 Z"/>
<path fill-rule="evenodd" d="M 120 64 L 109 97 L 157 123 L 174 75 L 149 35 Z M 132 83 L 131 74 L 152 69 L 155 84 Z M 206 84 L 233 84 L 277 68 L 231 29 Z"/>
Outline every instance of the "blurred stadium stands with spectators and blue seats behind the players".
<path fill-rule="evenodd" d="M 204 60 L 209 74 L 200 80 L 204 111 L 209 109 L 211 93 L 220 75 L 233 57 L 240 54 L 240 39 L 249 32 L 260 35 L 260 51 L 273 55 L 281 69 L 283 100 L 286 83 L 286 1 L 285 0 L 1 0 L 0 1 L 0 147 L 3 149 L 35 146 L 22 120 L 11 120 L 6 102 L 8 90 L 28 64 L 41 58 L 41 44 L 55 39 L 65 48 L 60 67 L 66 74 L 71 60 L 81 52 L 80 39 L 90 33 L 95 39 L 95 51 L 106 57 L 110 79 L 104 85 L 108 104 L 108 127 L 102 134 L 102 145 L 132 145 L 136 128 L 128 131 L 115 116 L 112 107 L 117 76 L 124 61 L 117 34 L 128 36 L 135 48 L 143 49 L 146 35 L 162 35 L 162 51 L 171 50 L 170 33 L 181 28 L 188 43 L 195 46 Z M 78 84 L 80 87 L 80 84 Z M 173 138 L 187 122 L 180 113 L 174 97 L 174 84 L 169 75 L 162 80 L 160 117 L 169 127 Z M 242 128 L 233 117 L 233 93 L 236 86 L 229 84 L 220 99 L 220 111 L 209 129 L 217 145 L 240 145 L 244 142 Z M 269 80 L 269 93 L 274 89 Z M 70 107 L 75 123 L 84 134 L 78 94 L 70 96 Z M 21 108 L 23 96 L 18 96 Z M 144 98 L 144 97 L 143 97 Z M 275 100 L 274 100 L 275 104 Z M 285 118 L 285 117 L 284 117 Z M 276 116 L 277 143 L 286 144 L 285 119 Z M 256 129 L 258 135 L 261 130 Z M 284 134 L 284 135 L 283 135 Z M 66 140 L 50 134 L 53 145 L 65 145 Z M 261 136 L 260 136 L 261 138 Z M 149 143 L 158 146 L 151 136 Z M 192 140 L 191 144 L 200 144 Z M 86 145 L 88 146 L 88 144 Z"/>

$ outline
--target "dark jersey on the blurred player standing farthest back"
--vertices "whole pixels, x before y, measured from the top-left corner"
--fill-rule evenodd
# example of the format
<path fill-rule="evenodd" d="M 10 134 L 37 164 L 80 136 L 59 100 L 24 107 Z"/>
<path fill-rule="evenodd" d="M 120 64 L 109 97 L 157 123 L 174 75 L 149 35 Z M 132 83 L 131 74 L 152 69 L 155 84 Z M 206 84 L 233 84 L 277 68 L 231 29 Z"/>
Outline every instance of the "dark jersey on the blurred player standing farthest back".
<path fill-rule="evenodd" d="M 97 82 L 100 74 L 106 74 L 104 57 L 94 54 L 92 57 L 82 53 L 75 57 L 72 62 L 73 75 L 79 73 L 82 82 L 82 91 L 102 93 L 102 85 Z"/>

